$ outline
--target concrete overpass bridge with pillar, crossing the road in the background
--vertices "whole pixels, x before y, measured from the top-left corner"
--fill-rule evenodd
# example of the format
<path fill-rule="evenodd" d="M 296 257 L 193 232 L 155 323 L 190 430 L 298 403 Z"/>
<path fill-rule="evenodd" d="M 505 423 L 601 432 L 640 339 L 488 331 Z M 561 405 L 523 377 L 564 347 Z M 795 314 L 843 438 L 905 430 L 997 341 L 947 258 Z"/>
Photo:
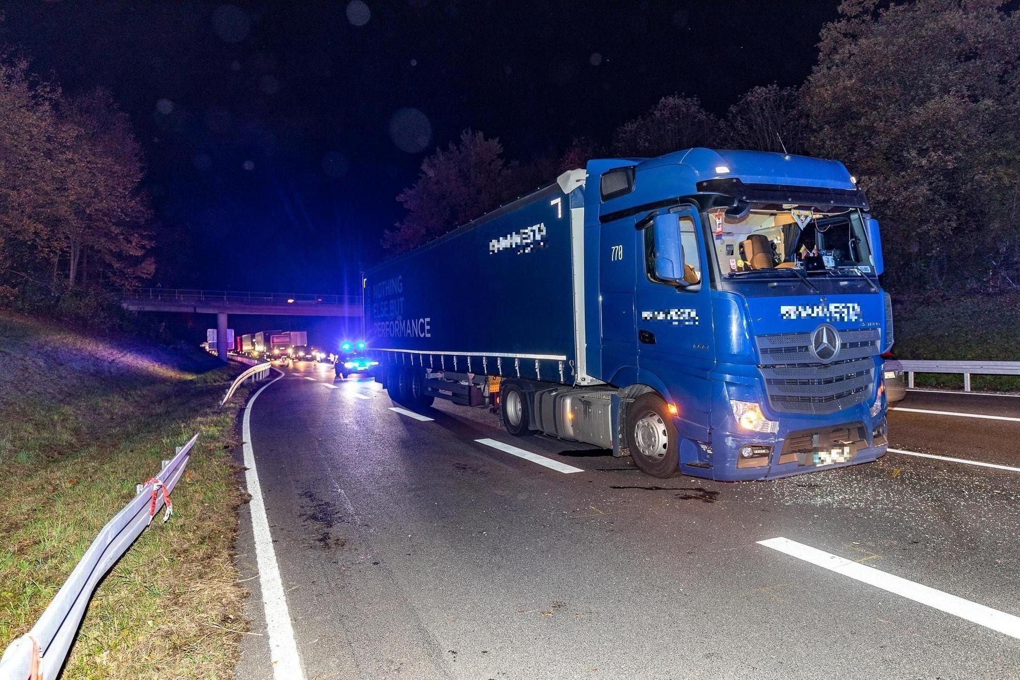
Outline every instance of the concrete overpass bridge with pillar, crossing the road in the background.
<path fill-rule="evenodd" d="M 227 350 L 227 314 L 361 317 L 361 297 L 357 295 L 139 288 L 125 293 L 120 300 L 120 306 L 132 311 L 216 314 L 216 353 L 224 361 Z"/>

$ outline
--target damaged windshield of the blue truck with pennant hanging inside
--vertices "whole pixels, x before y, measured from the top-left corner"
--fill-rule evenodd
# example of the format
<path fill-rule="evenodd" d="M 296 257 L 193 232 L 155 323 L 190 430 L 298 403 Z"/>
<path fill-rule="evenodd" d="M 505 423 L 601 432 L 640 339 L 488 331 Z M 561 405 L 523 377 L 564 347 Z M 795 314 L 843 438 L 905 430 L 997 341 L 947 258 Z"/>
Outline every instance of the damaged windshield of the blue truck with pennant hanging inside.
<path fill-rule="evenodd" d="M 705 222 L 723 279 L 872 273 L 864 220 L 857 208 L 752 204 L 743 215 L 709 210 Z M 783 271 L 790 269 L 798 271 Z"/>

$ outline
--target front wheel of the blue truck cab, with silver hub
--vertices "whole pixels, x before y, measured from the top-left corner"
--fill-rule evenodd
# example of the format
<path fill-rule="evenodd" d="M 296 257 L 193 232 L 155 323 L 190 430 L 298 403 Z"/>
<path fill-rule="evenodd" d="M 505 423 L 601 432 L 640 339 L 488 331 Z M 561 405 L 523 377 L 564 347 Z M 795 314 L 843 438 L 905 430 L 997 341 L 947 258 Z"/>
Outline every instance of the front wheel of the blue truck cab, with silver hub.
<path fill-rule="evenodd" d="M 646 475 L 668 479 L 680 474 L 679 435 L 658 394 L 642 394 L 627 408 L 626 439 L 630 457 Z"/>

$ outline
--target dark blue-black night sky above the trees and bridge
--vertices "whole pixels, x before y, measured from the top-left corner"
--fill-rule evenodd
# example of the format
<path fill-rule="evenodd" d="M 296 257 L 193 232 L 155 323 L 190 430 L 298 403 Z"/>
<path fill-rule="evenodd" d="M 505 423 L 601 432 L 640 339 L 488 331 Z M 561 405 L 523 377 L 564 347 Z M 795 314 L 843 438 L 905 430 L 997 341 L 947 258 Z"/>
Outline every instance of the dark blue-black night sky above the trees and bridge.
<path fill-rule="evenodd" d="M 135 124 L 164 288 L 344 293 L 464 128 L 511 159 L 608 142 L 660 97 L 798 85 L 837 0 L 7 1 L 0 42 Z M 554 178 L 550 178 L 552 181 Z"/>

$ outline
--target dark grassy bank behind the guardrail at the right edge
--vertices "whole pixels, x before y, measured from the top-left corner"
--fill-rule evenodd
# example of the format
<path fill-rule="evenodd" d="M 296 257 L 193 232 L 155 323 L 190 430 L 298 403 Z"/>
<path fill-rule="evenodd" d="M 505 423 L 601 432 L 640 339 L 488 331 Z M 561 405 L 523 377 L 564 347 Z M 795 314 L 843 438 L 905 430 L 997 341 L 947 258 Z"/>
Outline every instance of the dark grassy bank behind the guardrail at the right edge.
<path fill-rule="evenodd" d="M 1020 292 L 894 299 L 896 345 L 904 359 L 1020 360 Z M 963 389 L 963 376 L 918 374 L 916 384 Z M 1020 392 L 1020 377 L 973 376 L 975 390 Z"/>

